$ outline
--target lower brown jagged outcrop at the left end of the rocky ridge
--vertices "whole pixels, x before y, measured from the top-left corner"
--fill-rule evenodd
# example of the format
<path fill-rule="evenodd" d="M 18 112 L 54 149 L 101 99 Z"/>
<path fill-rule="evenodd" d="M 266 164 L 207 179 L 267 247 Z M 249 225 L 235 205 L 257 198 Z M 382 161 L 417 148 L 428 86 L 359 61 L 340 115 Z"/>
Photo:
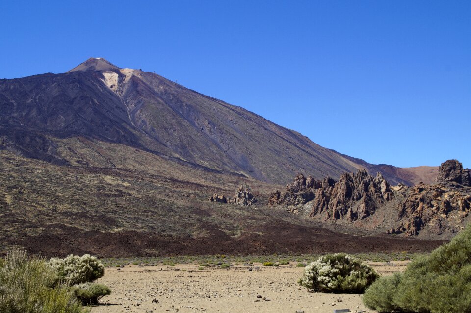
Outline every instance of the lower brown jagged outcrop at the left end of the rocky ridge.
<path fill-rule="evenodd" d="M 306 179 L 303 174 L 298 174 L 291 184 L 286 185 L 284 193 L 278 190 L 271 193 L 268 199 L 268 205 L 286 204 L 286 205 L 300 205 L 315 198 L 315 194 L 319 189 L 327 189 L 333 187 L 335 180 L 326 177 L 323 180 L 316 180 L 312 176 Z"/>

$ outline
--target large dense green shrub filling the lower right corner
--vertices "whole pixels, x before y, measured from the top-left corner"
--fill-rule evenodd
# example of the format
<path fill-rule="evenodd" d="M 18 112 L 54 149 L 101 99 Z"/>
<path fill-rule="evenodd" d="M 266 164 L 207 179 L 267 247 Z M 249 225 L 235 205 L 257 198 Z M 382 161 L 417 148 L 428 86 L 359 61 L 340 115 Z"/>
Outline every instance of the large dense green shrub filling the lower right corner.
<path fill-rule="evenodd" d="M 396 288 L 382 278 L 366 290 L 363 301 L 368 308 L 387 307 L 424 313 L 470 312 L 471 309 L 471 225 L 428 257 L 415 259 L 400 277 Z M 375 298 L 383 296 L 384 302 Z"/>

